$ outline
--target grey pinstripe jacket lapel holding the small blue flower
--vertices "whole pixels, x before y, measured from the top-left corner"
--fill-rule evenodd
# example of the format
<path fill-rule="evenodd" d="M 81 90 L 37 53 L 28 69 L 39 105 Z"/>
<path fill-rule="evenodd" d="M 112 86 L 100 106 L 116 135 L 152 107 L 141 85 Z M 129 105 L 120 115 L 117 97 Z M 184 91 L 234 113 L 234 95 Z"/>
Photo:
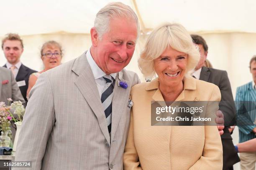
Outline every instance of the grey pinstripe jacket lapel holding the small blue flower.
<path fill-rule="evenodd" d="M 118 82 L 126 82 L 127 89 L 118 86 Z M 112 99 L 112 122 L 111 122 L 111 137 L 113 138 L 117 130 L 119 120 L 122 114 L 126 113 L 128 107 L 128 96 L 130 95 L 131 84 L 127 80 L 123 79 L 123 70 L 118 72 L 115 79 L 114 95 Z"/>

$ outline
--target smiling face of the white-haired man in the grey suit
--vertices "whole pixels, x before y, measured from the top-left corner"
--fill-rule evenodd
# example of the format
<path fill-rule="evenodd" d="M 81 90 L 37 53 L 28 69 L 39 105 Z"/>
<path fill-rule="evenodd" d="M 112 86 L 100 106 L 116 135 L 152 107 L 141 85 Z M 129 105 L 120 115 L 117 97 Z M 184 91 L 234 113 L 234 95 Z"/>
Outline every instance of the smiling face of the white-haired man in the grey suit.
<path fill-rule="evenodd" d="M 109 31 L 97 37 L 93 59 L 106 74 L 119 72 L 131 61 L 137 40 L 137 25 L 126 18 L 110 19 Z"/>

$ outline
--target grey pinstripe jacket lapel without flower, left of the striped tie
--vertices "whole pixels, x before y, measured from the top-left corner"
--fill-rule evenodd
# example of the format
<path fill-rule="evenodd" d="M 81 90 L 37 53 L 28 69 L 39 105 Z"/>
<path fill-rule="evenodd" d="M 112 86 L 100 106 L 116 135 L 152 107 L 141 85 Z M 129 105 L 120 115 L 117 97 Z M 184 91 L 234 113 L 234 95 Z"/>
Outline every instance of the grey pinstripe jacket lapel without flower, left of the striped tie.
<path fill-rule="evenodd" d="M 100 100 L 99 92 L 97 90 L 95 78 L 86 59 L 86 52 L 84 52 L 84 54 L 77 58 L 77 60 L 74 62 L 72 71 L 78 75 L 77 79 L 74 81 L 75 85 L 77 85 L 77 88 L 82 93 L 83 97 L 96 115 L 100 129 L 110 145 L 110 135 L 108 133 L 105 113 Z"/>

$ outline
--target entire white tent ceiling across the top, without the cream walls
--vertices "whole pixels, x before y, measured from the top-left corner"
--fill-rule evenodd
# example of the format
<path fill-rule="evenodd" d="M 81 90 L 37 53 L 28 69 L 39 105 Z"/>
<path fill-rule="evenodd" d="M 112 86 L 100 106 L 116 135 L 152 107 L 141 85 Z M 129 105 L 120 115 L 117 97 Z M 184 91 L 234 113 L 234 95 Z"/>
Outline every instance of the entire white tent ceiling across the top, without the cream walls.
<path fill-rule="evenodd" d="M 119 0 L 138 14 L 143 33 L 163 22 L 190 32 L 256 32 L 256 0 Z M 0 36 L 90 33 L 98 10 L 113 0 L 7 0 L 0 3 Z"/>

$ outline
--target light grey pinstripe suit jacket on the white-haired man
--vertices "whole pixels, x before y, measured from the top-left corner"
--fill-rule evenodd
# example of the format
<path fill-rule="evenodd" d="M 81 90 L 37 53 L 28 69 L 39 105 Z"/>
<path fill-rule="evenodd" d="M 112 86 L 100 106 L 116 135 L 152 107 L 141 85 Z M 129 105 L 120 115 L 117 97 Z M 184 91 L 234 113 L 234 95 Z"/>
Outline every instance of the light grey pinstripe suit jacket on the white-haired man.
<path fill-rule="evenodd" d="M 127 82 L 128 88 L 119 87 L 117 80 Z M 32 161 L 32 170 L 122 170 L 128 99 L 139 82 L 134 72 L 118 72 L 110 140 L 85 52 L 43 73 L 30 93 L 15 160 Z"/>

